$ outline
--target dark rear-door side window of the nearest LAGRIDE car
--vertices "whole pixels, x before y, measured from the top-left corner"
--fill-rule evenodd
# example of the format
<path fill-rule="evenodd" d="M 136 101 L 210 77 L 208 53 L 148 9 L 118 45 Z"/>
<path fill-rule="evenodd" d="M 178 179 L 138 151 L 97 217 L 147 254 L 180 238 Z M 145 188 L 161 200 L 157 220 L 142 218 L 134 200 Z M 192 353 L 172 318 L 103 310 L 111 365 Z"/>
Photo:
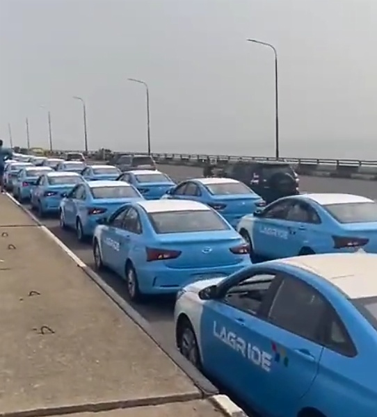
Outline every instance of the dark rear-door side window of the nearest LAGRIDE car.
<path fill-rule="evenodd" d="M 267 319 L 288 332 L 322 344 L 321 332 L 328 302 L 312 286 L 284 277 L 271 303 Z"/>

